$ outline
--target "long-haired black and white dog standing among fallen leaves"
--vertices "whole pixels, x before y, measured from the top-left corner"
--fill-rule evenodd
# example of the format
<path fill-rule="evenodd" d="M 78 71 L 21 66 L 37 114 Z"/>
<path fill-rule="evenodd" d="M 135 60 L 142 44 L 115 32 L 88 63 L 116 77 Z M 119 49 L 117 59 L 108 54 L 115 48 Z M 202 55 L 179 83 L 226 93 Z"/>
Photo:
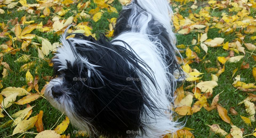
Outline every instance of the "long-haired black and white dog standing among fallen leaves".
<path fill-rule="evenodd" d="M 115 38 L 61 37 L 45 97 L 93 138 L 159 138 L 179 129 L 173 93 L 183 73 L 166 0 L 123 7 Z M 176 74 L 176 75 L 175 75 Z"/>

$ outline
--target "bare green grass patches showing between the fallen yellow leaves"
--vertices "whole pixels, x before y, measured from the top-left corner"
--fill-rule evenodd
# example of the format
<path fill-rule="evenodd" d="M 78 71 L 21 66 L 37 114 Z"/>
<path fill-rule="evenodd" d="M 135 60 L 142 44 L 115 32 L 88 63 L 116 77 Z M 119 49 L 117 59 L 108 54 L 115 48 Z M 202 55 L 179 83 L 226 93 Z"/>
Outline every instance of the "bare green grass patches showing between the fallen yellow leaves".
<path fill-rule="evenodd" d="M 85 2 L 85 1 L 84 1 Z M 37 3 L 37 1 L 33 1 L 33 0 L 27 0 L 27 3 Z M 89 8 L 86 8 L 86 11 L 89 11 L 91 9 L 94 9 L 97 7 L 96 4 L 93 3 L 93 1 L 91 2 L 92 4 L 90 5 Z M 176 3 L 178 4 L 178 3 Z M 183 15 L 184 17 L 188 16 L 188 12 L 189 12 L 189 8 L 193 3 L 187 3 L 187 5 L 185 7 L 184 11 L 180 11 L 180 14 Z M 21 6 L 20 4 L 18 6 Z M 112 3 L 112 6 L 115 7 L 118 11 L 121 11 L 122 6 L 121 4 L 115 0 Z M 206 6 L 205 4 L 202 4 L 202 6 Z M 200 11 L 201 8 L 203 8 L 202 6 L 199 6 L 198 9 L 192 10 L 194 13 L 198 13 Z M 69 8 L 71 8 L 71 10 L 77 10 L 76 5 L 71 5 Z M 174 7 L 175 8 L 175 7 Z M 173 9 L 174 9 L 173 8 Z M 7 8 L 3 7 L 3 9 L 5 10 L 5 14 L 0 14 L 0 22 L 4 22 L 5 24 L 7 23 L 7 21 L 9 21 L 10 19 L 15 19 L 15 17 L 18 17 L 18 21 L 20 21 L 21 17 L 25 16 L 26 17 L 30 17 L 29 19 L 27 19 L 27 21 L 29 20 L 34 20 L 35 23 L 40 23 L 41 21 L 43 22 L 43 24 L 46 24 L 47 20 L 50 17 L 46 17 L 46 18 L 38 18 L 37 16 L 35 16 L 34 14 L 28 14 L 25 11 L 16 11 L 17 8 L 13 8 L 11 10 L 8 9 L 9 12 L 12 12 L 11 14 L 7 14 Z M 41 13 L 43 11 L 41 10 Z M 51 12 L 53 12 L 53 9 L 51 9 Z M 221 17 L 222 12 L 226 12 L 229 13 L 228 10 L 212 10 L 210 11 L 210 15 L 211 16 L 217 16 L 217 17 Z M 236 14 L 236 13 L 229 13 L 229 14 Z M 73 13 L 72 12 L 68 12 L 64 17 L 67 18 L 69 16 L 72 16 Z M 255 16 L 254 12 L 251 12 L 251 16 Z M 112 17 L 118 17 L 117 13 L 108 13 L 105 12 L 101 19 L 98 22 L 94 22 L 91 19 L 78 19 L 77 23 L 83 22 L 83 21 L 89 21 L 89 26 L 92 27 L 92 33 L 96 33 L 96 37 L 99 36 L 100 33 L 105 33 L 106 30 L 108 30 L 108 25 L 109 22 L 107 21 L 107 19 L 111 19 Z M 9 29 L 12 29 L 14 26 L 9 26 Z M 0 32 L 2 32 L 3 30 L 0 29 Z M 225 38 L 225 42 L 233 42 L 235 40 L 235 32 L 229 34 L 229 35 L 225 35 L 224 33 L 218 33 L 219 29 L 210 29 L 209 32 L 207 33 L 208 38 L 216 38 L 216 37 L 222 37 Z M 37 30 L 34 30 L 32 33 L 41 36 L 43 38 L 47 38 L 49 39 L 49 41 L 51 43 L 54 42 L 58 42 L 59 40 L 59 36 L 54 34 L 54 33 L 42 33 L 39 32 Z M 198 32 L 191 32 L 187 35 L 181 35 L 181 34 L 177 34 L 177 45 L 179 44 L 185 44 L 185 45 L 190 45 L 192 39 L 197 39 L 197 34 Z M 10 35 L 15 36 L 15 34 L 12 32 L 10 33 Z M 256 34 L 250 34 L 250 35 L 246 35 L 244 42 L 245 43 L 255 43 L 255 41 L 249 39 L 251 36 L 255 36 Z M 4 44 L 6 41 L 8 41 L 9 38 L 1 38 L 0 39 L 0 44 Z M 41 43 L 39 42 L 36 38 L 34 38 L 32 40 L 33 42 L 37 42 L 37 43 Z M 15 45 L 17 47 L 21 47 L 20 42 L 15 41 Z M 200 46 L 199 46 L 200 47 Z M 190 49 L 193 50 L 193 46 L 190 46 Z M 201 49 L 201 48 L 200 48 Z M 254 52 L 255 53 L 255 52 Z M 25 74 L 26 71 L 19 71 L 20 67 L 22 65 L 24 65 L 25 63 L 15 63 L 14 61 L 17 60 L 22 54 L 27 54 L 30 55 L 31 57 L 37 57 L 38 56 L 38 52 L 36 48 L 30 47 L 29 46 L 29 51 L 24 52 L 24 51 L 18 51 L 15 55 L 11 55 L 11 54 L 6 54 L 3 56 L 3 62 L 7 62 L 10 65 L 10 68 L 13 70 L 13 72 L 8 72 L 9 76 L 6 79 L 2 79 L 2 84 L 3 84 L 3 88 L 6 87 L 22 87 L 24 85 L 26 85 L 26 81 L 21 80 L 20 78 L 25 78 Z M 182 53 L 182 55 L 184 57 L 185 53 Z M 202 59 L 206 54 L 205 52 L 201 49 L 200 53 L 197 53 L 198 57 L 200 59 Z M 216 61 L 217 61 L 217 57 L 218 56 L 227 56 L 228 53 L 227 51 L 225 51 L 222 47 L 217 47 L 217 48 L 209 48 L 208 50 L 208 54 L 206 55 L 205 60 L 210 60 L 210 63 L 202 63 L 200 62 L 199 64 L 194 62 L 192 64 L 190 64 L 191 68 L 196 68 L 199 72 L 201 73 L 205 73 L 203 75 L 203 78 L 201 80 L 203 81 L 210 81 L 211 80 L 211 75 L 210 73 L 207 72 L 207 70 L 205 68 L 217 68 L 216 65 Z M 235 56 L 238 54 L 235 54 Z M 240 54 L 241 55 L 241 54 Z M 50 54 L 49 56 L 47 56 L 48 59 L 51 59 L 53 57 L 52 54 Z M 44 80 L 42 78 L 42 76 L 51 76 L 53 74 L 53 70 L 52 67 L 50 67 L 48 65 L 48 62 L 45 60 L 38 60 L 36 58 L 31 58 L 31 61 L 37 61 L 37 63 L 31 67 L 30 72 L 33 76 L 35 75 L 39 75 L 39 90 L 41 90 L 43 88 L 43 86 L 45 85 L 47 80 Z M 241 64 L 242 62 L 246 62 L 250 64 L 250 68 L 249 69 L 240 69 L 241 68 Z M 220 92 L 222 92 L 222 94 L 220 95 L 219 101 L 218 103 L 221 104 L 225 109 L 229 110 L 230 107 L 235 107 L 235 110 L 239 113 L 239 115 L 242 116 L 248 116 L 246 111 L 245 111 L 245 106 L 244 105 L 237 105 L 239 102 L 241 102 L 242 100 L 244 100 L 247 97 L 247 93 L 246 92 L 242 92 L 240 90 L 236 90 L 236 88 L 233 87 L 232 83 L 233 83 L 233 78 L 232 77 L 232 71 L 235 68 L 238 68 L 238 71 L 236 72 L 235 76 L 238 74 L 241 74 L 242 78 L 246 78 L 245 83 L 255 83 L 255 80 L 253 78 L 253 76 L 251 75 L 252 72 L 252 66 L 255 65 L 255 61 L 253 60 L 253 57 L 250 56 L 249 53 L 246 53 L 245 57 L 237 62 L 237 63 L 226 63 L 225 64 L 225 72 L 223 72 L 220 76 L 219 76 L 219 81 L 218 81 L 218 86 L 214 88 L 214 92 L 213 92 L 213 97 L 217 94 L 219 94 Z M 2 72 L 3 70 L 3 66 L 0 66 L 0 72 Z M 215 74 L 215 73 L 214 73 Z M 0 78 L 2 78 L 2 75 L 0 74 Z M 189 82 L 185 82 L 184 86 L 188 86 L 190 85 Z M 192 91 L 192 90 L 186 90 L 186 91 Z M 32 90 L 32 93 L 35 93 L 35 90 Z M 253 92 L 254 94 L 256 94 L 255 92 Z M 207 99 L 208 103 L 211 103 L 211 101 L 213 100 L 213 97 L 211 97 L 210 99 Z M 17 100 L 19 100 L 21 97 L 17 97 Z M 193 103 L 196 100 L 193 101 Z M 54 126 L 54 124 L 57 122 L 57 119 L 61 116 L 61 113 L 53 108 L 50 103 L 45 100 L 44 98 L 39 98 L 31 103 L 29 103 L 30 105 L 36 105 L 33 108 L 33 112 L 31 114 L 31 117 L 36 115 L 37 113 L 39 113 L 40 110 L 43 110 L 43 124 L 44 124 L 44 128 L 45 130 L 49 130 L 52 127 L 55 128 L 56 126 Z M 6 111 L 7 113 L 9 113 L 10 115 L 25 109 L 26 105 L 17 105 L 17 104 L 13 104 L 10 108 L 7 108 Z M 239 115 L 231 115 L 230 113 L 228 113 L 229 117 L 231 118 L 231 122 L 234 123 L 235 126 L 238 126 L 239 128 L 244 128 L 245 132 L 243 135 L 247 135 L 253 132 L 254 128 L 256 127 L 256 123 L 252 122 L 251 126 L 248 126 L 247 124 L 245 124 L 241 117 Z M 6 117 L 4 118 L 0 118 L 0 125 L 4 124 L 5 122 L 9 121 L 10 118 L 7 116 L 7 114 L 5 114 Z M 60 121 L 57 123 L 59 124 L 62 120 L 64 120 L 65 116 L 63 115 L 60 118 Z M 204 108 L 201 109 L 200 112 L 197 112 L 193 115 L 189 115 L 186 116 L 182 119 L 180 119 L 180 121 L 186 121 L 186 125 L 185 127 L 189 127 L 189 128 L 193 128 L 194 130 L 191 131 L 193 133 L 193 135 L 196 138 L 205 138 L 205 137 L 209 137 L 209 138 L 217 138 L 219 137 L 218 135 L 213 135 L 210 134 L 210 127 L 207 126 L 211 125 L 211 124 L 219 124 L 219 126 L 227 131 L 229 133 L 229 130 L 231 128 L 230 124 L 222 121 L 222 119 L 219 117 L 217 110 L 212 110 L 210 112 L 208 112 L 207 110 L 205 110 Z M 6 128 L 0 128 L 0 137 L 6 137 L 12 134 L 14 127 L 6 127 Z M 75 134 L 73 133 L 73 131 L 75 131 L 78 129 L 74 128 L 72 125 L 69 125 L 67 130 L 63 133 L 63 134 L 71 134 L 71 138 L 75 137 Z M 36 128 L 32 128 L 30 129 L 28 132 L 34 132 L 37 133 Z M 9 136 L 11 138 L 15 138 L 18 137 L 19 135 L 16 134 L 14 136 Z M 32 138 L 35 137 L 35 134 L 29 134 L 27 133 L 26 138 Z M 81 136 L 80 136 L 81 137 Z M 248 136 L 248 137 L 253 137 L 253 136 Z"/>

